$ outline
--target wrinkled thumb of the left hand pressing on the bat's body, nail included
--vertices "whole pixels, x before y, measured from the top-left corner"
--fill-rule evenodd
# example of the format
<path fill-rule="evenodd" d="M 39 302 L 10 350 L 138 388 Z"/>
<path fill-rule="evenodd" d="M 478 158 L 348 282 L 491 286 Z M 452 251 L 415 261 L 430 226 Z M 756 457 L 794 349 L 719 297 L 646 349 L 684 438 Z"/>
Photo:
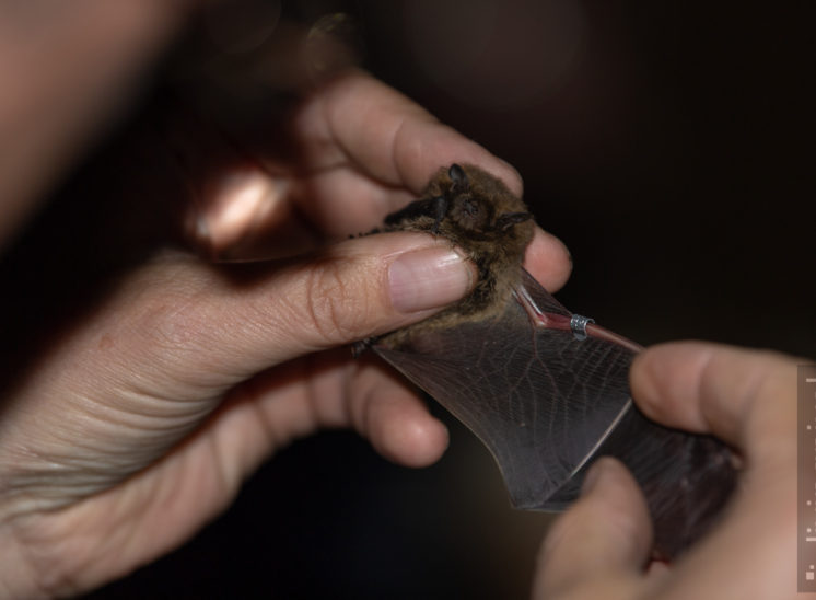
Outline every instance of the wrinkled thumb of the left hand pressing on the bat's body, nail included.
<path fill-rule="evenodd" d="M 475 266 L 450 242 L 419 233 L 349 240 L 275 269 L 182 262 L 176 276 L 164 265 L 164 285 L 147 292 L 175 309 L 150 311 L 138 331 L 165 349 L 171 332 L 173 362 L 187 371 L 217 365 L 238 378 L 420 321 L 476 281 Z"/>

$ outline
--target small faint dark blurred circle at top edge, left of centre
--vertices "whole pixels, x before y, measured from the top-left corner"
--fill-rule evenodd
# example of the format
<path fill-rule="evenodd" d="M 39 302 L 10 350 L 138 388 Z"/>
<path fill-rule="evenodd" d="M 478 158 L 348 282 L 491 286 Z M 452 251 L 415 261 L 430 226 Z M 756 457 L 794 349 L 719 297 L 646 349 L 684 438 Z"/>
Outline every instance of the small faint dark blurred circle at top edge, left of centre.
<path fill-rule="evenodd" d="M 222 51 L 246 53 L 272 35 L 280 12 L 280 0 L 210 0 L 203 10 L 205 27 Z"/>

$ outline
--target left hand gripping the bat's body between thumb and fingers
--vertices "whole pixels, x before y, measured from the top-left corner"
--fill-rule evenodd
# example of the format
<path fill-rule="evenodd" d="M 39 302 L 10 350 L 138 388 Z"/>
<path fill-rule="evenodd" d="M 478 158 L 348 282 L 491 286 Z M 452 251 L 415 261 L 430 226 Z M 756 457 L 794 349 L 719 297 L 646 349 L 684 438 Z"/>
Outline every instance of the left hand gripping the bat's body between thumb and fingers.
<path fill-rule="evenodd" d="M 316 93 L 292 124 L 300 159 L 269 183 L 315 245 L 375 226 L 454 161 L 521 191 L 505 163 L 364 74 Z M 412 392 L 337 347 L 456 300 L 471 268 L 424 234 L 318 247 L 248 266 L 159 253 L 20 371 L 0 414 L 1 592 L 70 595 L 127 573 L 320 427 L 354 427 L 404 464 L 439 458 L 446 432 Z M 569 274 L 541 231 L 527 267 L 552 289 Z"/>

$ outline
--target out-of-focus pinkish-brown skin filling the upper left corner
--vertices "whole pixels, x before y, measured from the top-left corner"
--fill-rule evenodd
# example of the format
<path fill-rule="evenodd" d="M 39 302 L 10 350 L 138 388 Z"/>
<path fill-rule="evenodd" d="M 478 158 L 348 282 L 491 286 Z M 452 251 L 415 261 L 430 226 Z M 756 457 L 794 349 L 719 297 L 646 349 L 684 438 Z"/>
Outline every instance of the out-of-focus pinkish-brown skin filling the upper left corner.
<path fill-rule="evenodd" d="M 189 4 L 3 3 L 0 139 L 14 147 L 0 161 L 0 241 L 120 107 Z"/>

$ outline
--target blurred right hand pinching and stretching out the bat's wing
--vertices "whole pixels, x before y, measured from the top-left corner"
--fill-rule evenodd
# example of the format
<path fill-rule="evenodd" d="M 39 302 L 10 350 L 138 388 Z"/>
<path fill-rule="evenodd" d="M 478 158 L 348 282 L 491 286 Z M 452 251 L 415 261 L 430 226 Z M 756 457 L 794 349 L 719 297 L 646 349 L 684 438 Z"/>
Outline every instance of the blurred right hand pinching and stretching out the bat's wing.
<path fill-rule="evenodd" d="M 630 377 L 649 417 L 736 448 L 741 487 L 687 554 L 650 564 L 645 499 L 621 463 L 599 460 L 544 543 L 534 598 L 798 598 L 796 360 L 676 343 L 644 350 Z"/>

